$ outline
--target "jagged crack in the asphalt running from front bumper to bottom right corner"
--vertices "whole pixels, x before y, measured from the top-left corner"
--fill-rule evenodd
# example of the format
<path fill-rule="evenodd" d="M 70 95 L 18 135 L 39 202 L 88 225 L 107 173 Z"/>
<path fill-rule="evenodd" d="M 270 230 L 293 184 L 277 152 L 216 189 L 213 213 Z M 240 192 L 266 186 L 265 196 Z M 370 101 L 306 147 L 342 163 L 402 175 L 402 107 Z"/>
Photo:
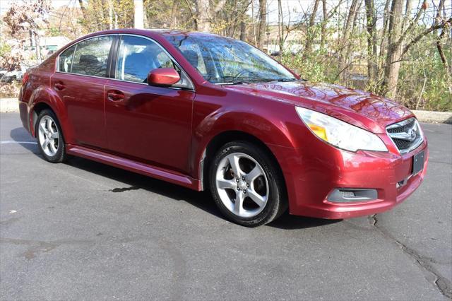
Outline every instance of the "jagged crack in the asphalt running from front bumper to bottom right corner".
<path fill-rule="evenodd" d="M 434 259 L 431 259 L 427 256 L 422 256 L 415 249 L 411 249 L 406 244 L 403 244 L 403 242 L 400 242 L 400 240 L 397 240 L 396 237 L 393 237 L 393 235 L 391 235 L 391 233 L 389 233 L 388 230 L 381 228 L 380 225 L 377 225 L 378 219 L 376 218 L 376 214 L 369 216 L 368 219 L 370 225 L 373 225 L 375 229 L 378 230 L 381 233 L 381 235 L 383 235 L 383 237 L 386 237 L 387 239 L 396 242 L 398 247 L 400 247 L 400 249 L 402 249 L 402 251 L 405 254 L 414 259 L 418 266 L 423 268 L 425 271 L 433 274 L 435 278 L 434 285 L 436 285 L 436 288 L 439 289 L 441 294 L 448 298 L 452 298 L 451 282 L 448 281 L 446 277 L 442 276 L 441 273 L 436 271 L 436 268 L 432 266 L 431 263 L 436 263 Z"/>

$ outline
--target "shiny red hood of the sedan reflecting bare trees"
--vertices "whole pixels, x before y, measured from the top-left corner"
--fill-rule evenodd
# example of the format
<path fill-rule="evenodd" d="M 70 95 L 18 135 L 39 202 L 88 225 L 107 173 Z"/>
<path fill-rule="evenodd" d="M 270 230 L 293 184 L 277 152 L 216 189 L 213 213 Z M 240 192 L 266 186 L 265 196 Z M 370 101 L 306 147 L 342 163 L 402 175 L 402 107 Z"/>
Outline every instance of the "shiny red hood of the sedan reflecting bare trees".
<path fill-rule="evenodd" d="M 397 102 L 340 85 L 273 81 L 224 87 L 323 112 L 374 133 L 386 133 L 388 124 L 412 116 L 410 110 Z"/>

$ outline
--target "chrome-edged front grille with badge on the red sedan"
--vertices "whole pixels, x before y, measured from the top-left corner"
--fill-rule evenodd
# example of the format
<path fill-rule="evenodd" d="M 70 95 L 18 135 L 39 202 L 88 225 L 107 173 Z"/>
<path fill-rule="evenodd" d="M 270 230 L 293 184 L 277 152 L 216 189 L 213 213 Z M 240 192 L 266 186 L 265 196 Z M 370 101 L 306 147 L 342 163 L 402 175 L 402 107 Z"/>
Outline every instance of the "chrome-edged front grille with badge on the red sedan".
<path fill-rule="evenodd" d="M 414 117 L 391 124 L 386 127 L 386 131 L 400 153 L 408 153 L 414 150 L 424 140 L 419 123 Z"/>

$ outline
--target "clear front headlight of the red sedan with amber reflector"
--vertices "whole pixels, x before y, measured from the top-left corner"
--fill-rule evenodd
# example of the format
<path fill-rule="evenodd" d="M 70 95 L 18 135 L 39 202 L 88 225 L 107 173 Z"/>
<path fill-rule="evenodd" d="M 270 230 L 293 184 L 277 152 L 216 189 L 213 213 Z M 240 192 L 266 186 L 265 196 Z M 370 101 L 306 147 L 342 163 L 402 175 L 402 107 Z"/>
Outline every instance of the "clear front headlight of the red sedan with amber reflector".
<path fill-rule="evenodd" d="M 388 151 L 376 134 L 316 111 L 295 107 L 312 133 L 333 146 L 347 151 Z"/>

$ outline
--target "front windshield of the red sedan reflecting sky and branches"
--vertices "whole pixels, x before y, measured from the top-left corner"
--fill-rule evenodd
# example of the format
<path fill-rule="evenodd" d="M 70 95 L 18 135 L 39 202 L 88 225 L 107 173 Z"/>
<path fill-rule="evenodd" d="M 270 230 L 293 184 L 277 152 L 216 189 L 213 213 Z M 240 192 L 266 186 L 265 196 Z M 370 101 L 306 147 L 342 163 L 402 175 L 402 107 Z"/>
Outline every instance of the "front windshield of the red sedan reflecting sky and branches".
<path fill-rule="evenodd" d="M 292 73 L 260 50 L 218 35 L 167 35 L 165 38 L 210 83 L 296 81 Z"/>

